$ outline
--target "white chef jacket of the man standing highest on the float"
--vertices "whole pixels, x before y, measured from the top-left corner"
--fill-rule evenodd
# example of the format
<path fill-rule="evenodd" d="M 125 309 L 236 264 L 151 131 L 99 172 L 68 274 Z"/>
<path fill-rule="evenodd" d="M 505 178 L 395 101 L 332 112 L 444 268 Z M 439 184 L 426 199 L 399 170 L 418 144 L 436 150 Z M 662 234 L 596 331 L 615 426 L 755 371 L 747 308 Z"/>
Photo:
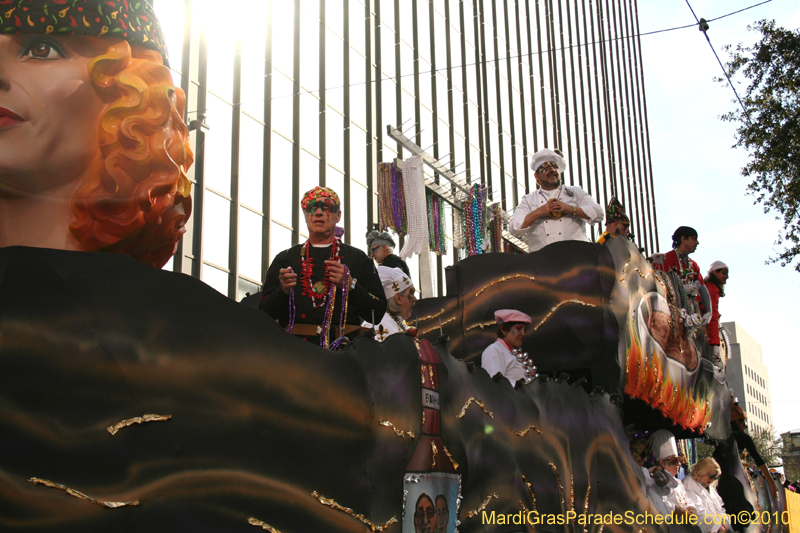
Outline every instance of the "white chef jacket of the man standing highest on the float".
<path fill-rule="evenodd" d="M 565 213 L 560 218 L 542 217 L 522 229 L 525 217 L 547 203 L 550 198 L 558 198 L 566 204 L 580 207 L 589 220 Z M 589 242 L 589 238 L 586 236 L 586 224 L 597 224 L 602 220 L 603 208 L 589 193 L 580 187 L 562 185 L 552 191 L 537 188 L 532 193 L 526 194 L 514 211 L 514 216 L 511 217 L 508 231 L 512 235 L 527 235 L 528 250 L 534 252 L 558 241 Z"/>

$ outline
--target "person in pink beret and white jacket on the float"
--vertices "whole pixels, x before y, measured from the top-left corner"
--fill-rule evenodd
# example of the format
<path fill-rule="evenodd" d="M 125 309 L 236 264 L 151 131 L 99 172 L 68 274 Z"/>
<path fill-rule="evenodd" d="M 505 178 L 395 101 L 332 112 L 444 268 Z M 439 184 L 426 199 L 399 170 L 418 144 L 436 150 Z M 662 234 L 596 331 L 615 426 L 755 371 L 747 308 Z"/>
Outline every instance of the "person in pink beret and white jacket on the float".
<path fill-rule="evenodd" d="M 531 317 L 516 309 L 499 309 L 494 318 L 499 326 L 497 340 L 483 351 L 481 367 L 489 376 L 504 375 L 512 385 L 521 379 L 529 382 L 533 377 L 532 364 L 527 354 L 522 353 L 522 341 Z"/>

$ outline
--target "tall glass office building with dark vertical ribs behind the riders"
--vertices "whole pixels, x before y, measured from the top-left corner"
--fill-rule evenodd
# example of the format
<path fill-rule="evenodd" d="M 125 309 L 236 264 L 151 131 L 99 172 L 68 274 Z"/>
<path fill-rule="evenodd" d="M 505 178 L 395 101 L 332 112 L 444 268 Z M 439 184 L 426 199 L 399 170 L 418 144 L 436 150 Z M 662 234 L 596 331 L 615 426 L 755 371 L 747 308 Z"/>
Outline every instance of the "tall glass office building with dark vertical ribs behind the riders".
<path fill-rule="evenodd" d="M 631 215 L 657 242 L 637 0 L 155 0 L 187 94 L 194 211 L 167 266 L 237 300 L 305 239 L 300 196 L 344 203 L 366 249 L 377 164 L 418 146 L 513 212 L 540 148 L 567 184 Z M 448 213 L 450 208 L 448 208 Z M 447 221 L 452 236 L 452 221 Z M 592 229 L 596 237 L 601 228 Z M 434 295 L 459 251 L 430 262 Z M 419 275 L 417 258 L 409 261 Z"/>

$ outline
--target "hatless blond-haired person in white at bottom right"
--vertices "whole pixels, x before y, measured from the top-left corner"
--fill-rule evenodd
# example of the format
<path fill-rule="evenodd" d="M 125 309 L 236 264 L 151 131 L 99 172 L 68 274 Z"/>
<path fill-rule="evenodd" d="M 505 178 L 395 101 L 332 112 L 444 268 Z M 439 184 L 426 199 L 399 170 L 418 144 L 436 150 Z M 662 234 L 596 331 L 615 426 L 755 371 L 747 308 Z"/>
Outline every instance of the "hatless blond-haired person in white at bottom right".
<path fill-rule="evenodd" d="M 725 533 L 730 529 L 722 498 L 717 494 L 717 480 L 722 473 L 713 458 L 706 457 L 692 467 L 692 475 L 683 480 L 686 494 L 697 510 L 697 525 L 705 533 Z"/>

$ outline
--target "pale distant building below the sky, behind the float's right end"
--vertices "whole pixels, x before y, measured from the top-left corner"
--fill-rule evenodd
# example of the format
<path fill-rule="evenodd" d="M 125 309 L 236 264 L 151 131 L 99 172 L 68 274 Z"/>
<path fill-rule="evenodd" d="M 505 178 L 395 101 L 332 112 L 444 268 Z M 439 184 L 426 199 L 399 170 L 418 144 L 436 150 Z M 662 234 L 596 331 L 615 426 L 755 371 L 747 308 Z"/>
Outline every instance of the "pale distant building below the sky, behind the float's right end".
<path fill-rule="evenodd" d="M 750 431 L 769 429 L 775 421 L 772 418 L 769 371 L 761 356 L 761 345 L 736 322 L 725 322 L 722 326 L 728 331 L 731 343 L 728 386 L 747 413 Z"/>

